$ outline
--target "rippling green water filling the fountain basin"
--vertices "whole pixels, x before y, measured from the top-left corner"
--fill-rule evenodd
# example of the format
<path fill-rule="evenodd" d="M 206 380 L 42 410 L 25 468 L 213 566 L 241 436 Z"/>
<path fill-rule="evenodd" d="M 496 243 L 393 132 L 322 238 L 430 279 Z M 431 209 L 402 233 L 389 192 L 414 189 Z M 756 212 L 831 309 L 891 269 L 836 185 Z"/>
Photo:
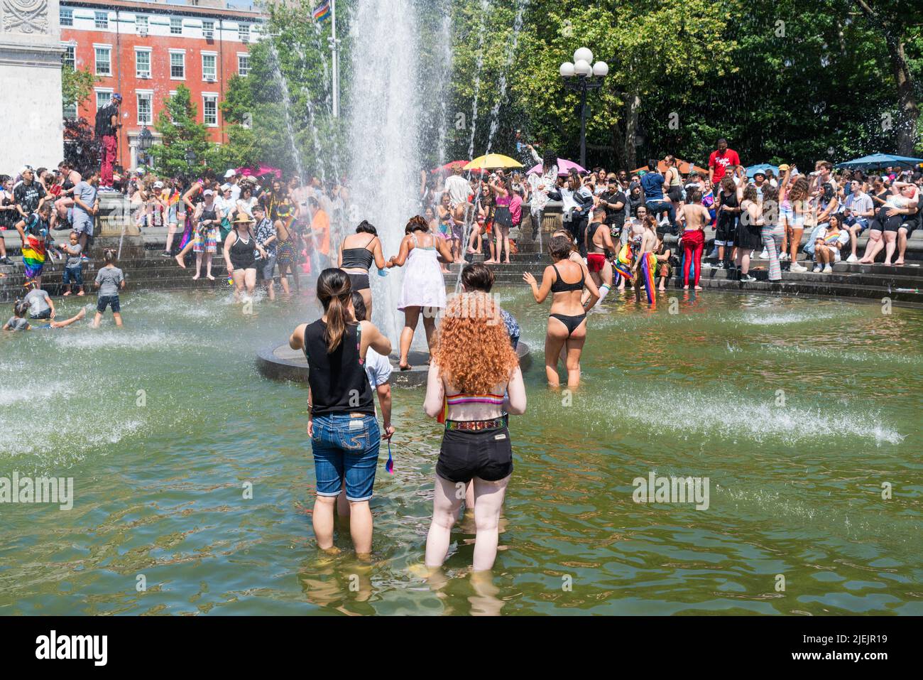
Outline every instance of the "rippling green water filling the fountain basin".
<path fill-rule="evenodd" d="M 422 390 L 395 390 L 372 564 L 344 530 L 318 554 L 306 390 L 253 360 L 306 299 L 129 293 L 121 331 L 5 334 L 0 477 L 72 477 L 76 498 L 0 505 L 0 613 L 923 613 L 923 313 L 669 295 L 675 314 L 607 299 L 569 395 L 545 387 L 547 306 L 499 291 L 539 356 L 489 578 L 466 522 L 444 575 L 420 568 Z M 708 477 L 709 508 L 635 503 L 652 472 Z"/>

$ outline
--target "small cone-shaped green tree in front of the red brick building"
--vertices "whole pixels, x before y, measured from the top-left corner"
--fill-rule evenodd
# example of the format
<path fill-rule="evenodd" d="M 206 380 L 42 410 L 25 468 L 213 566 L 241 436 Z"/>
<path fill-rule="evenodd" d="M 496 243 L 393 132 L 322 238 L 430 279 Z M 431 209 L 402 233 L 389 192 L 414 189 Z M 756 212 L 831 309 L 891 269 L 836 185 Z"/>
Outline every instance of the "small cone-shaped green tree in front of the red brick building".
<path fill-rule="evenodd" d="M 216 167 L 213 160 L 219 155 L 208 137 L 208 128 L 197 122 L 198 111 L 192 103 L 189 89 L 184 85 L 176 88 L 174 96 L 167 98 L 154 129 L 161 133 L 162 143 L 150 149 L 158 169 L 167 175 L 184 174 L 194 176 L 202 171 L 203 164 Z M 186 152 L 193 152 L 196 160 L 186 161 Z"/>

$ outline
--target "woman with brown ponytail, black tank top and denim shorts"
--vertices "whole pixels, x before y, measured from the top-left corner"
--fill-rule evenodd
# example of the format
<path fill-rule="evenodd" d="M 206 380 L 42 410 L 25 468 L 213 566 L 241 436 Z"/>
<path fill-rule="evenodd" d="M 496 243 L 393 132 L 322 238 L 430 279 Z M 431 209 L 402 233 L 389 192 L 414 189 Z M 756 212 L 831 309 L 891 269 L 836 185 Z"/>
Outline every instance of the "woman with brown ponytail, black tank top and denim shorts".
<path fill-rule="evenodd" d="M 333 516 L 343 481 L 350 504 L 350 534 L 355 552 L 372 552 L 372 513 L 368 500 L 375 485 L 382 435 L 375 419 L 372 388 L 364 364 L 369 347 L 388 356 L 391 344 L 371 322 L 355 322 L 352 285 L 342 269 L 325 269 L 318 278 L 323 316 L 294 329 L 289 346 L 305 352 L 308 365 L 307 435 L 311 439 L 318 497 L 313 525 L 318 546 L 333 548 Z"/>

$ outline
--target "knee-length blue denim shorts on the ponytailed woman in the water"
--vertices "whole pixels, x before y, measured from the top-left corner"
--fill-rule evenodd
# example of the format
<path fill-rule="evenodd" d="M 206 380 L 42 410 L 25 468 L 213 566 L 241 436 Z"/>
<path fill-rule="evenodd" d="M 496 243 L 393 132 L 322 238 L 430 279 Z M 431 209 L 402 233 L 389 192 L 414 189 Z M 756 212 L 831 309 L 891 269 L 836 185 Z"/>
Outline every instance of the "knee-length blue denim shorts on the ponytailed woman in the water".
<path fill-rule="evenodd" d="M 318 478 L 318 496 L 340 494 L 346 480 L 346 500 L 359 502 L 372 497 L 378 468 L 381 431 L 374 416 L 351 418 L 334 413 L 314 419 L 311 449 Z"/>

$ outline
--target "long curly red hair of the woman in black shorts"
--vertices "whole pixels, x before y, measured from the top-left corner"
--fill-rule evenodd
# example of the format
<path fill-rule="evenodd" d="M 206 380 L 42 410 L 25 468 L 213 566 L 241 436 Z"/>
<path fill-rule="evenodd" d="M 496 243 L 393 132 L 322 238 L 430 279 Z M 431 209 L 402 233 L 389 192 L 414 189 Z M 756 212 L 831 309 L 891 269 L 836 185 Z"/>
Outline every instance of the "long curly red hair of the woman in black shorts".
<path fill-rule="evenodd" d="M 493 297 L 475 291 L 451 297 L 439 325 L 433 361 L 446 383 L 486 395 L 519 366 Z"/>

